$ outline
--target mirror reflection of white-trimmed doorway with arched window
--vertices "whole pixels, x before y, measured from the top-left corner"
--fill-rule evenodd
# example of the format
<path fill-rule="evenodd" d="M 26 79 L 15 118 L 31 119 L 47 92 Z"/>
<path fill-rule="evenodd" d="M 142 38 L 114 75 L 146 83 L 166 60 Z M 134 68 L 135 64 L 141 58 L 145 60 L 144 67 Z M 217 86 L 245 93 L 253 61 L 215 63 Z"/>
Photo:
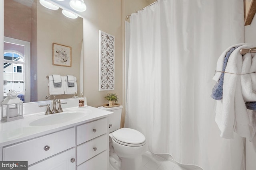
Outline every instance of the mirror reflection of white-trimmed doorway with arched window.
<path fill-rule="evenodd" d="M 4 98 L 12 89 L 30 102 L 30 42 L 4 37 Z"/>

